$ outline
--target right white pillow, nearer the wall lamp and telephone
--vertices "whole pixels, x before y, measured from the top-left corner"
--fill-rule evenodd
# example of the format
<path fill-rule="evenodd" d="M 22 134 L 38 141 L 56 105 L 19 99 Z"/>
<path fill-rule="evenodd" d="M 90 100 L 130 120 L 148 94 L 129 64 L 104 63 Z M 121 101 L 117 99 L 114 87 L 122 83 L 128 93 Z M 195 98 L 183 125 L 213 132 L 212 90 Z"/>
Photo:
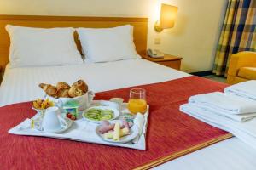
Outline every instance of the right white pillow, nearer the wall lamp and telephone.
<path fill-rule="evenodd" d="M 78 28 L 77 31 L 85 58 L 92 62 L 138 58 L 131 25 L 113 28 Z"/>

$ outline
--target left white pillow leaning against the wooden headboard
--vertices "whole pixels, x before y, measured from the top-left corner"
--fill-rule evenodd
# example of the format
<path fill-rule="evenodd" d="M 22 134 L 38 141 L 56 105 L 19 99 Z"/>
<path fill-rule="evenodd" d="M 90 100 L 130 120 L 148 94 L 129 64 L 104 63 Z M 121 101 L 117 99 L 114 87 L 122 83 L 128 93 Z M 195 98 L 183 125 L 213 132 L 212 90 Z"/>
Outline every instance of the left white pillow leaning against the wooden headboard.
<path fill-rule="evenodd" d="M 10 37 L 11 67 L 75 65 L 83 63 L 73 28 L 30 28 L 6 26 Z"/>

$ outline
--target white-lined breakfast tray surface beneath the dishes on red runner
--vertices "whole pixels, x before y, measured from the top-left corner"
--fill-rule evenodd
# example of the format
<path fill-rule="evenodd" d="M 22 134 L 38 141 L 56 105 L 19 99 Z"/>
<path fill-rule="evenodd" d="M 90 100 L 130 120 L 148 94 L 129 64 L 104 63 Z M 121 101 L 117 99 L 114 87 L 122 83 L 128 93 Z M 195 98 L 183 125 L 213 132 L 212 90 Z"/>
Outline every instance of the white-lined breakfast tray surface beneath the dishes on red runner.
<path fill-rule="evenodd" d="M 98 103 L 98 101 L 94 101 L 92 105 L 94 106 Z M 120 116 L 123 116 L 123 114 L 127 113 L 127 107 L 126 103 L 121 105 L 120 108 Z M 104 141 L 100 139 L 96 134 L 96 126 L 98 124 L 93 122 L 87 122 L 85 121 L 81 114 L 79 114 L 79 119 L 73 122 L 72 127 L 67 129 L 67 131 L 63 133 L 40 133 L 36 129 L 31 128 L 31 119 L 27 118 L 24 122 L 21 122 L 16 127 L 13 127 L 9 130 L 9 133 L 16 134 L 16 135 L 25 135 L 25 136 L 42 136 L 42 137 L 48 137 L 48 138 L 55 138 L 55 139 L 67 139 L 67 140 L 75 140 L 80 142 L 87 142 L 87 143 L 93 143 L 93 144 L 106 144 L 111 146 L 119 146 L 119 147 L 125 147 L 125 148 L 131 148 L 136 150 L 146 150 L 146 132 L 147 132 L 147 126 L 148 126 L 148 115 L 149 115 L 149 105 L 147 108 L 146 113 L 144 116 L 144 122 L 142 125 L 135 125 L 137 127 L 143 127 L 141 129 L 141 135 L 139 138 L 136 138 L 134 140 L 131 140 L 131 142 L 121 144 L 121 143 L 111 143 Z M 35 115 L 37 116 L 37 115 Z"/>

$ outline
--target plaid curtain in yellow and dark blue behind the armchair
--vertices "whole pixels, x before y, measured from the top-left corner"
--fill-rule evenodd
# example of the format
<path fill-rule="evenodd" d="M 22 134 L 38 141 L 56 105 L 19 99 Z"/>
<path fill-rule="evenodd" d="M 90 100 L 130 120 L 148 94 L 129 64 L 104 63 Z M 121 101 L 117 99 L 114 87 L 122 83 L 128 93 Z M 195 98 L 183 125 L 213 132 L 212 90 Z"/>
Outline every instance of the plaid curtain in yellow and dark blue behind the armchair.
<path fill-rule="evenodd" d="M 226 76 L 231 54 L 256 51 L 256 0 L 229 0 L 213 73 Z"/>

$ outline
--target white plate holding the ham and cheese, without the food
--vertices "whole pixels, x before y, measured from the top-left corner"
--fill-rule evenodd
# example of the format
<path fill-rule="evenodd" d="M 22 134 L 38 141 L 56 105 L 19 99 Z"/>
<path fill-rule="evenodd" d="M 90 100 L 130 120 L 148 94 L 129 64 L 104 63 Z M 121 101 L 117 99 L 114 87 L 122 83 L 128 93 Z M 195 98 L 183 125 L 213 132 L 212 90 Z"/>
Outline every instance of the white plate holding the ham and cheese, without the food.
<path fill-rule="evenodd" d="M 110 121 L 111 124 L 113 124 L 115 122 L 120 122 L 120 124 L 122 123 L 120 120 Z M 130 142 L 131 140 L 135 139 L 137 137 L 138 133 L 139 133 L 139 130 L 138 130 L 137 126 L 133 125 L 130 128 L 130 134 L 121 137 L 119 141 L 115 141 L 113 139 L 104 139 L 103 134 L 99 132 L 100 127 L 101 127 L 101 125 L 97 126 L 96 130 L 95 130 L 98 137 L 102 140 L 105 140 L 107 142 L 112 142 L 112 143 L 122 143 L 122 144 L 124 144 L 124 143 Z"/>

